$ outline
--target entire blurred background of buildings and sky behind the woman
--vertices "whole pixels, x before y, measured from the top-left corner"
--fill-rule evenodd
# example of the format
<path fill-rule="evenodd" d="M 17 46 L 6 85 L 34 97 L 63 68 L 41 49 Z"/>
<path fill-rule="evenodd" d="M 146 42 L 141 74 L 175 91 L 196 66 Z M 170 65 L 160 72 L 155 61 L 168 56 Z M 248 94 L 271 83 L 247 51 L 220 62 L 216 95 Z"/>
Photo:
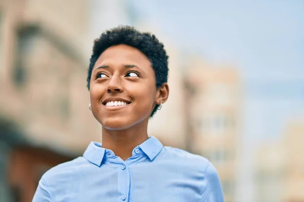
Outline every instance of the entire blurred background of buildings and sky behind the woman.
<path fill-rule="evenodd" d="M 149 31 L 170 97 L 148 132 L 208 158 L 227 202 L 304 201 L 304 1 L 0 0 L 0 201 L 101 141 L 88 109 L 94 38 Z"/>

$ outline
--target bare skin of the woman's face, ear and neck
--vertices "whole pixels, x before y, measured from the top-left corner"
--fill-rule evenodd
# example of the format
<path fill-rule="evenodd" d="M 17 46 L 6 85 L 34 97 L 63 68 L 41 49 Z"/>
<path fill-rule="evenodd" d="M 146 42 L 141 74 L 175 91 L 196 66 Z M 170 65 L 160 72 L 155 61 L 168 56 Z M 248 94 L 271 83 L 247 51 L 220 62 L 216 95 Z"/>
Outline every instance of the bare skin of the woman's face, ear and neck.
<path fill-rule="evenodd" d="M 132 150 L 148 139 L 151 112 L 168 95 L 168 84 L 156 87 L 151 63 L 138 49 L 125 44 L 107 48 L 90 81 L 92 113 L 102 125 L 102 147 L 124 161 L 130 158 Z"/>

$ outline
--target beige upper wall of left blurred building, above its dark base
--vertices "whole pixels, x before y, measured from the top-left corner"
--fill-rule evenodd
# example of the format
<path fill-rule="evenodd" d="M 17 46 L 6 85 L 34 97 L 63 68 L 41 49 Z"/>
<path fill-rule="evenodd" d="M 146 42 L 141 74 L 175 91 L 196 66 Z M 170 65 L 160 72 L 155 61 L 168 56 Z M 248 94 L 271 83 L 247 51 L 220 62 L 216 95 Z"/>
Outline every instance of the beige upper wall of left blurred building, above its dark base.
<path fill-rule="evenodd" d="M 1 115 L 36 145 L 82 154 L 100 127 L 81 47 L 87 1 L 1 1 Z"/>

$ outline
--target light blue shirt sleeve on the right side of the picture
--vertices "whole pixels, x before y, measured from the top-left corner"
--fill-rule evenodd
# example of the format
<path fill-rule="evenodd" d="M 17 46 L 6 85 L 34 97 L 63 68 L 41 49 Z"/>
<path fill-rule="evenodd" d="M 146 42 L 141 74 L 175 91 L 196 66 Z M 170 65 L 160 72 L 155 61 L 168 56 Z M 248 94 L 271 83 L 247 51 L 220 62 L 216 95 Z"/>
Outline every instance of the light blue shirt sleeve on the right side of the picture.
<path fill-rule="evenodd" d="M 201 202 L 224 202 L 219 176 L 211 163 L 205 170 L 205 180 Z"/>

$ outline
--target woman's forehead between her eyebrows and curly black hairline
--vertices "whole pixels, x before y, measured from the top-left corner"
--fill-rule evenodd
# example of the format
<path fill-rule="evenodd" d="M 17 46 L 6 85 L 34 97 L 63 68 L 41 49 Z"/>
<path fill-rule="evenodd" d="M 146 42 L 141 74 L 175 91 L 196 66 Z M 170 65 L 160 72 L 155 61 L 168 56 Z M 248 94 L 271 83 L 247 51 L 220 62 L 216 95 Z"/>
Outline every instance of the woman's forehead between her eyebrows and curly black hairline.
<path fill-rule="evenodd" d="M 138 66 L 151 66 L 148 58 L 137 48 L 120 44 L 105 49 L 96 61 L 95 66 L 132 64 Z"/>

